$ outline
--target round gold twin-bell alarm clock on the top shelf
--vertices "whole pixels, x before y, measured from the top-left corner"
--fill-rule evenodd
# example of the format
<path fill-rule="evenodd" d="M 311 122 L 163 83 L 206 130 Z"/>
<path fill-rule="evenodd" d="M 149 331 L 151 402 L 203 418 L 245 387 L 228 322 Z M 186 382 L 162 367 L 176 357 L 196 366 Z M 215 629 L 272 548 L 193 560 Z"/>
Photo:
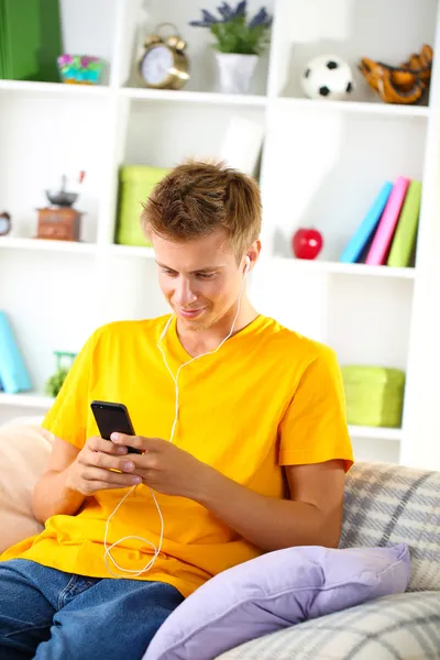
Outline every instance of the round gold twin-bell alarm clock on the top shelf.
<path fill-rule="evenodd" d="M 175 34 L 161 36 L 160 30 L 170 25 Z M 180 89 L 189 80 L 188 57 L 184 53 L 186 42 L 173 23 L 160 23 L 155 34 L 144 42 L 139 59 L 139 75 L 146 87 L 153 89 Z"/>

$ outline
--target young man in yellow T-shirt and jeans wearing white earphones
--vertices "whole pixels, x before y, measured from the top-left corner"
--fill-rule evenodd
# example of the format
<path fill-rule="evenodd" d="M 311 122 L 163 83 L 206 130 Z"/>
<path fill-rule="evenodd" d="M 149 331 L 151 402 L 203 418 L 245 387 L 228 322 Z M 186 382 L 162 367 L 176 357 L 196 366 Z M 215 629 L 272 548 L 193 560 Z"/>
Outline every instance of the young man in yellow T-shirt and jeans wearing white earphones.
<path fill-rule="evenodd" d="M 256 184 L 183 164 L 143 223 L 173 315 L 98 329 L 50 410 L 56 440 L 34 493 L 45 529 L 2 557 L 0 658 L 142 658 L 212 575 L 339 542 L 352 463 L 340 371 L 246 297 Z M 138 435 L 98 437 L 94 399 L 124 404 Z"/>

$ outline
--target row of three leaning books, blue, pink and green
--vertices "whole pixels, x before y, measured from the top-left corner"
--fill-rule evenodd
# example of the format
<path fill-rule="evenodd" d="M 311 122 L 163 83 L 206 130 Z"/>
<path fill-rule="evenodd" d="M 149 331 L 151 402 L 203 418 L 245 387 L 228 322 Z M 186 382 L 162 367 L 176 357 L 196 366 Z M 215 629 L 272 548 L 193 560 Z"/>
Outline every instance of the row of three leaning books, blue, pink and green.
<path fill-rule="evenodd" d="M 385 182 L 340 261 L 372 266 L 414 265 L 420 204 L 421 182 L 405 176 Z"/>

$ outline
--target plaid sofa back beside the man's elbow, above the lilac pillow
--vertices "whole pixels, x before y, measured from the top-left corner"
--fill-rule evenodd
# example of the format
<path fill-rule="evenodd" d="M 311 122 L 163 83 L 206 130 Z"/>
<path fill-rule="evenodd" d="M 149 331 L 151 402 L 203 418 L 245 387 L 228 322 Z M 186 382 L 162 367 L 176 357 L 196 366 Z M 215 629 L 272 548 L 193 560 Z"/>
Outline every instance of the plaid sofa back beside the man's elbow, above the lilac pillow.
<path fill-rule="evenodd" d="M 440 472 L 353 465 L 340 547 L 400 542 L 408 543 L 411 556 L 408 591 L 440 591 Z"/>

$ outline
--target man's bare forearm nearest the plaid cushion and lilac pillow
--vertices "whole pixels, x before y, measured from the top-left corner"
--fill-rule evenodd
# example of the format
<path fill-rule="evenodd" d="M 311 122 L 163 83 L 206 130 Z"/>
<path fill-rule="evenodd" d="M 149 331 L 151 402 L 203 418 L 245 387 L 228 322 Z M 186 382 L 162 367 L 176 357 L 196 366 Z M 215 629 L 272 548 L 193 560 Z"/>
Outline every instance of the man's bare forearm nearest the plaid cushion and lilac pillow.
<path fill-rule="evenodd" d="M 212 470 L 197 502 L 263 550 L 336 547 L 339 520 L 305 502 L 260 495 Z"/>

